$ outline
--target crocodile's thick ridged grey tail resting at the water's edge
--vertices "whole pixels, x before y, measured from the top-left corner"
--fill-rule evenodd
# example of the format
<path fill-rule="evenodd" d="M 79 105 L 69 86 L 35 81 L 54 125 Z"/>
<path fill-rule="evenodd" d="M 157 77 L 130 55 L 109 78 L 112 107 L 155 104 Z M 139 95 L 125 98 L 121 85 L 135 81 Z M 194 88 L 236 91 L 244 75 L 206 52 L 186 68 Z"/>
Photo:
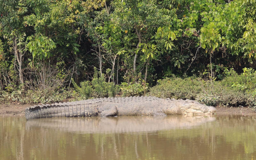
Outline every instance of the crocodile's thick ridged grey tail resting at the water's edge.
<path fill-rule="evenodd" d="M 94 108 L 88 106 L 91 105 L 91 103 L 86 103 L 86 101 L 87 100 L 31 106 L 26 108 L 25 117 L 29 120 L 46 117 L 94 116 Z"/>

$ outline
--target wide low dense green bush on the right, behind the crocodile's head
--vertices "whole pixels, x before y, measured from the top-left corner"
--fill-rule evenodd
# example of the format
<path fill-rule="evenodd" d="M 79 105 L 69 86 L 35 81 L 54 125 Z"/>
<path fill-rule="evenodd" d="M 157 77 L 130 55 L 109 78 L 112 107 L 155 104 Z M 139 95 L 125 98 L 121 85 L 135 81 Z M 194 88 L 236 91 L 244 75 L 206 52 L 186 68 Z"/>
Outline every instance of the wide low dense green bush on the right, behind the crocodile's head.
<path fill-rule="evenodd" d="M 256 107 L 256 72 L 244 68 L 238 75 L 233 69 L 226 70 L 221 81 L 204 81 L 196 77 L 166 78 L 149 89 L 148 95 L 160 98 L 191 99 L 209 106 Z"/>

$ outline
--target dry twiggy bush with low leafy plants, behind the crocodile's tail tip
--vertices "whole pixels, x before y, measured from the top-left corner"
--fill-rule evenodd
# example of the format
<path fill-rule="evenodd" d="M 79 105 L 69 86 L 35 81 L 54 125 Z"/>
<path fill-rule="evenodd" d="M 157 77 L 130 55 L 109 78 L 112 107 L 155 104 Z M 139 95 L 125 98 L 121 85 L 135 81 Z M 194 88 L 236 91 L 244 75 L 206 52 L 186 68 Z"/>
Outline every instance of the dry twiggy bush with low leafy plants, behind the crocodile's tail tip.
<path fill-rule="evenodd" d="M 24 68 L 24 84 L 9 84 L 0 95 L 1 103 L 19 101 L 21 103 L 52 103 L 72 96 L 67 90 L 70 71 L 62 69 L 64 61 L 52 65 L 38 62 Z"/>

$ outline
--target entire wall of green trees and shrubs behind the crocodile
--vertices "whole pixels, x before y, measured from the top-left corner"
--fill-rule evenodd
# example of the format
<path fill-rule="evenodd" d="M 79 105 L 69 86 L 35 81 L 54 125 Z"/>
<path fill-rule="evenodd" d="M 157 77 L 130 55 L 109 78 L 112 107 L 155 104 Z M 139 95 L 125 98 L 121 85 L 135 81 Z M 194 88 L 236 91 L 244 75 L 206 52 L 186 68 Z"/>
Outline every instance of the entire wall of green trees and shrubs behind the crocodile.
<path fill-rule="evenodd" d="M 118 93 L 256 105 L 255 0 L 0 4 L 0 102 Z"/>

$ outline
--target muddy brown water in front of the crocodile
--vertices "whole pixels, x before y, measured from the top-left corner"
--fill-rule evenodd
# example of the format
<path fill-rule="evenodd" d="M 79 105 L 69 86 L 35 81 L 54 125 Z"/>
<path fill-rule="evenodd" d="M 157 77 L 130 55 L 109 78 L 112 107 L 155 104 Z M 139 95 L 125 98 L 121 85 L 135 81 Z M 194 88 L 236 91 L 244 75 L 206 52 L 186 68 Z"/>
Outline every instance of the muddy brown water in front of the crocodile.
<path fill-rule="evenodd" d="M 0 117 L 0 159 L 256 159 L 256 117 Z"/>

